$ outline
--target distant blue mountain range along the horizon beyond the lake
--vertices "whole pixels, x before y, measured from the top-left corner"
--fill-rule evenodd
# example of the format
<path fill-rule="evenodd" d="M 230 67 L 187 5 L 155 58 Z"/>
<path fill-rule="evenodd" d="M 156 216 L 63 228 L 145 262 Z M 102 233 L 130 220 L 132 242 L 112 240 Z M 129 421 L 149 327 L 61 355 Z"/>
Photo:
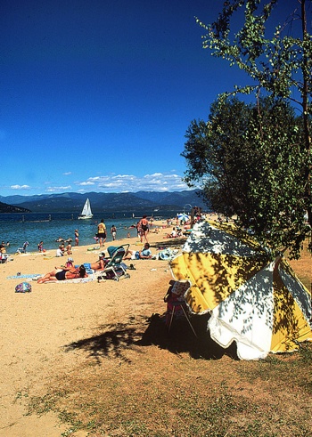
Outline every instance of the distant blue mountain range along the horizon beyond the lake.
<path fill-rule="evenodd" d="M 207 209 L 201 199 L 201 190 L 185 190 L 173 192 L 138 191 L 136 193 L 97 193 L 85 194 L 67 192 L 62 194 L 39 194 L 36 196 L 0 196 L 0 203 L 7 206 L 25 208 L 33 213 L 72 212 L 80 213 L 86 198 L 90 199 L 93 213 L 118 211 L 160 211 L 191 209 L 190 206 L 200 206 Z M 0 212 L 11 213 L 14 211 Z M 27 212 L 27 211 L 15 211 Z"/>

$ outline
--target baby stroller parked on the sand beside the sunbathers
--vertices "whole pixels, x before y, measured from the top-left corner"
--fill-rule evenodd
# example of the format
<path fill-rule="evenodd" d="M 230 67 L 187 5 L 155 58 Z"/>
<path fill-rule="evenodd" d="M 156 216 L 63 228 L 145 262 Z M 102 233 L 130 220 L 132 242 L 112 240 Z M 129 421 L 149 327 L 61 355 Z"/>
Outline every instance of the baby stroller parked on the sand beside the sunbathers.
<path fill-rule="evenodd" d="M 126 271 L 126 265 L 122 263 L 128 247 L 129 245 L 119 247 L 110 246 L 107 248 L 110 258 L 107 259 L 104 270 L 101 271 L 101 275 L 97 278 L 99 282 L 101 279 L 119 280 L 122 277 L 130 278 L 130 275 Z"/>

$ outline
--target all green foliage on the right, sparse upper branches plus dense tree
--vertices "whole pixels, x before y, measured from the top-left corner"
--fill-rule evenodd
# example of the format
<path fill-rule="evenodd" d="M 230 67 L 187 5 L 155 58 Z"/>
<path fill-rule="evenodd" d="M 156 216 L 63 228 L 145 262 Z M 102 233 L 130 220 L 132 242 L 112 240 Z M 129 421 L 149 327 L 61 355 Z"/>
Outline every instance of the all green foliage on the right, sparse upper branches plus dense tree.
<path fill-rule="evenodd" d="M 271 247 L 272 255 L 289 247 L 291 256 L 299 257 L 310 231 L 303 223 L 306 211 L 312 225 L 308 2 L 301 0 L 298 7 L 294 1 L 298 9 L 285 22 L 292 26 L 296 19 L 300 27 L 293 25 L 291 32 L 275 26 L 269 35 L 267 21 L 278 0 L 228 0 L 212 24 L 197 19 L 206 32 L 203 47 L 245 71 L 252 83 L 221 94 L 207 124 L 192 122 L 182 154 L 188 164 L 185 181 L 200 182 L 218 212 L 238 214 L 238 224 Z M 241 21 L 232 20 L 242 12 Z M 267 99 L 259 99 L 261 90 Z M 237 93 L 256 93 L 257 103 L 248 107 L 228 99 Z M 286 101 L 300 106 L 300 117 Z"/>

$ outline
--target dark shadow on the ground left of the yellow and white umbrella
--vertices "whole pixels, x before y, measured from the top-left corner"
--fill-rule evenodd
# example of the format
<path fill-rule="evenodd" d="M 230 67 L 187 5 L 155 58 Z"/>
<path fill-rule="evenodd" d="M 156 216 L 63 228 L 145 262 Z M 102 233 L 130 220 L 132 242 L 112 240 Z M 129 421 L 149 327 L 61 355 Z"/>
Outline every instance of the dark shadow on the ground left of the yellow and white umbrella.
<path fill-rule="evenodd" d="M 144 353 L 141 348 L 152 345 L 175 354 L 186 352 L 194 359 L 219 360 L 226 354 L 237 360 L 234 344 L 228 349 L 223 349 L 211 340 L 207 331 L 208 316 L 193 317 L 192 324 L 197 337 L 194 336 L 187 320 L 175 320 L 170 332 L 165 320 L 165 314 L 152 314 L 150 318 L 132 318 L 127 323 L 103 325 L 98 327 L 103 330 L 101 334 L 66 344 L 65 352 L 86 352 L 98 365 L 105 358 L 130 363 L 127 351 Z"/>

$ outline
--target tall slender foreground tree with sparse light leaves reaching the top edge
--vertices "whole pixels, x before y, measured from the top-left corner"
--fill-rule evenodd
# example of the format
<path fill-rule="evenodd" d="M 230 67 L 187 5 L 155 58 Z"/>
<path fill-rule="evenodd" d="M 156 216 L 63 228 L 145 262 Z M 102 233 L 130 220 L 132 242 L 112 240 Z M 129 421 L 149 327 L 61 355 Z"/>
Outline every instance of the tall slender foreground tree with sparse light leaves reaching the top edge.
<path fill-rule="evenodd" d="M 259 101 L 259 95 L 264 91 L 278 100 L 287 99 L 301 109 L 301 123 L 297 126 L 297 134 L 278 129 L 277 136 L 274 131 L 270 131 L 269 120 L 263 118 L 261 110 L 264 108 L 258 107 L 254 110 L 256 115 L 253 118 L 253 133 L 250 134 L 252 132 L 252 119 L 250 119 L 248 134 L 243 139 L 245 144 L 243 147 L 246 148 L 248 142 L 253 144 L 254 156 L 259 158 L 259 164 L 255 167 L 257 176 L 254 179 L 250 177 L 246 182 L 249 184 L 249 204 L 255 206 L 253 222 L 259 223 L 255 229 L 256 235 L 262 239 L 265 231 L 270 232 L 272 247 L 278 247 L 278 240 L 280 243 L 288 242 L 293 249 L 293 254 L 298 256 L 300 241 L 304 239 L 306 231 L 302 226 L 302 218 L 306 211 L 308 211 L 308 222 L 312 224 L 310 136 L 312 38 L 308 33 L 306 15 L 306 6 L 311 2 L 294 0 L 294 7 L 300 4 L 300 8 L 285 21 L 285 26 L 276 26 L 272 35 L 268 36 L 267 21 L 271 19 L 277 4 L 277 0 L 267 2 L 228 0 L 218 15 L 218 20 L 208 26 L 200 20 L 198 22 L 207 31 L 202 36 L 203 47 L 209 48 L 214 56 L 229 61 L 231 66 L 238 66 L 252 79 L 251 85 L 236 86 L 234 93 L 254 92 Z M 283 1 L 281 6 L 283 8 Z M 244 13 L 242 28 L 234 29 L 235 24 L 232 19 L 239 12 Z M 295 28 L 296 23 L 300 23 L 300 28 Z M 286 33 L 290 29 L 287 24 L 293 26 L 295 36 Z M 221 96 L 219 101 L 226 99 L 228 94 Z M 269 117 L 274 117 L 274 114 L 270 112 Z M 264 124 L 265 121 L 267 126 Z M 273 118 L 271 121 L 274 121 Z M 298 133 L 301 134 L 299 139 Z M 293 134 L 296 134 L 295 139 Z M 299 159 L 298 166 L 301 167 L 296 170 L 291 165 L 293 171 L 291 175 L 289 163 L 296 162 L 296 159 Z M 240 165 L 244 167 L 246 163 L 241 162 Z M 187 174 L 186 181 L 190 182 L 191 176 L 190 173 Z M 292 195 L 291 190 L 286 190 L 287 187 L 278 190 L 278 184 L 286 176 L 289 181 L 296 181 L 298 186 Z M 262 185 L 258 183 L 259 181 Z M 209 183 L 210 191 L 212 182 L 209 180 Z M 296 188 L 292 182 L 291 185 L 292 188 Z M 274 197 L 272 197 L 273 193 L 275 193 Z M 247 198 L 237 199 L 239 200 L 246 202 Z M 257 208 L 258 205 L 261 207 Z M 295 208 L 294 213 L 286 214 L 286 210 L 290 207 Z M 280 222 L 279 237 L 277 237 L 278 224 L 275 225 L 275 231 L 268 230 L 268 225 L 274 220 Z M 242 221 L 244 222 L 243 214 Z"/>

